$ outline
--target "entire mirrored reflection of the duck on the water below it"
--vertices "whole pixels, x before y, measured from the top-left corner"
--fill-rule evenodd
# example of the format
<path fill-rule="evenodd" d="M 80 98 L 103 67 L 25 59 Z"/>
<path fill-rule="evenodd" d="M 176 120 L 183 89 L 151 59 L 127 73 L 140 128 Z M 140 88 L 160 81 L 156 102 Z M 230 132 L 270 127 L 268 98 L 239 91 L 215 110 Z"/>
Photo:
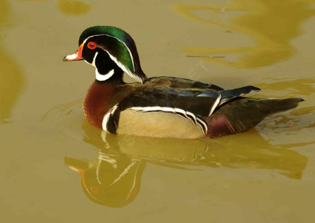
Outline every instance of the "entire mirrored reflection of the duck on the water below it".
<path fill-rule="evenodd" d="M 109 207 L 131 203 L 140 190 L 146 162 L 177 169 L 270 169 L 301 179 L 307 158 L 288 148 L 305 144 L 272 145 L 257 131 L 211 140 L 175 140 L 112 135 L 83 122 L 83 141 L 98 149 L 96 160 L 65 158 L 80 174 L 86 196 Z"/>

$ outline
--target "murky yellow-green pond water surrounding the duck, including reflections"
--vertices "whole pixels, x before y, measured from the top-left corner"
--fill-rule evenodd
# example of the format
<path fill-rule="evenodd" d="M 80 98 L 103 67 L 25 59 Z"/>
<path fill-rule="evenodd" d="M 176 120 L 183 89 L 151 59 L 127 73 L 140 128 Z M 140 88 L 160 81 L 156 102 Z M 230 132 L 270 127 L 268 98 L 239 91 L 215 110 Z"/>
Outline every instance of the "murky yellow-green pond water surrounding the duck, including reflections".
<path fill-rule="evenodd" d="M 313 0 L 1 0 L 1 222 L 314 222 L 314 16 Z M 94 68 L 61 62 L 95 25 L 128 31 L 149 77 L 305 102 L 216 139 L 106 134 L 83 117 Z"/>

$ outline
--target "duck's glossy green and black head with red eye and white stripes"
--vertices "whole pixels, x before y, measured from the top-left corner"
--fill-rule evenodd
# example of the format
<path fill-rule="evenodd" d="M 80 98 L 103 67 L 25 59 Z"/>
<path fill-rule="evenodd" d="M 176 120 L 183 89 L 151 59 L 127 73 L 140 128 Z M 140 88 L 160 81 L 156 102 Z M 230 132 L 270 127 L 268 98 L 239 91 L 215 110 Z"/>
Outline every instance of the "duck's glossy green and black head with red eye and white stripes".
<path fill-rule="evenodd" d="M 95 67 L 99 81 L 121 79 L 123 72 L 143 83 L 148 80 L 141 69 L 132 37 L 113 26 L 93 26 L 79 38 L 79 49 L 63 61 L 85 60 Z"/>

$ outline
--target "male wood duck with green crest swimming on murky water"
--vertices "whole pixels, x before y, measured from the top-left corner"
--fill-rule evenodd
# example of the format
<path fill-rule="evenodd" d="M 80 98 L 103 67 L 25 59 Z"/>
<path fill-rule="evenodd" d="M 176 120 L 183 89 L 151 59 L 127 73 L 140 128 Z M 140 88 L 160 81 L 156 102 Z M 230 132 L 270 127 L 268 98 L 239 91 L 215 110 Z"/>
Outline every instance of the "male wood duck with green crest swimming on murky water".
<path fill-rule="evenodd" d="M 253 86 L 226 90 L 184 78 L 148 78 L 132 37 L 112 26 L 84 30 L 79 49 L 63 59 L 74 60 L 96 68 L 83 103 L 86 120 L 112 134 L 214 138 L 247 131 L 266 116 L 303 101 L 242 97 L 260 90 Z M 125 83 L 124 73 L 137 82 Z"/>

